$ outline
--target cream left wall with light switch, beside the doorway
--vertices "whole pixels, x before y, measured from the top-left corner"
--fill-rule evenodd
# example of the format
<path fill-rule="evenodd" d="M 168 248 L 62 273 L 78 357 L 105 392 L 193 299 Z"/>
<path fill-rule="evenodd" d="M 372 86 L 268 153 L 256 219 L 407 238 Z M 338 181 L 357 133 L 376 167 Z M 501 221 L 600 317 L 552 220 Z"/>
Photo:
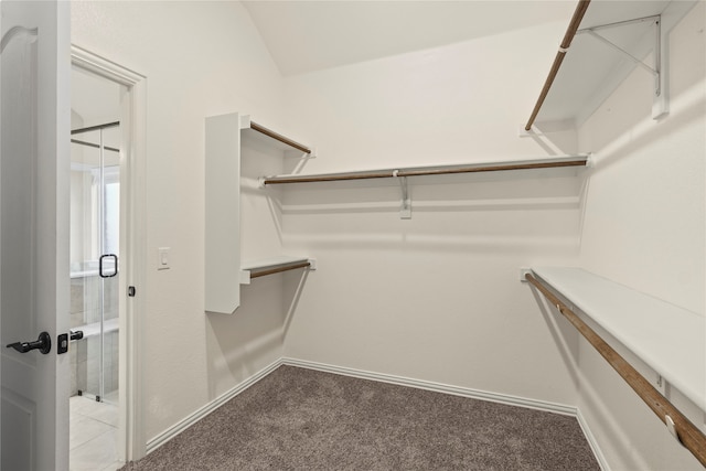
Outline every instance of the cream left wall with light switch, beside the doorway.
<path fill-rule="evenodd" d="M 149 441 L 281 356 L 281 288 L 245 288 L 234 315 L 203 307 L 204 118 L 239 111 L 281 128 L 281 78 L 238 2 L 72 2 L 72 42 L 147 77 Z M 171 247 L 169 270 L 158 247 Z"/>

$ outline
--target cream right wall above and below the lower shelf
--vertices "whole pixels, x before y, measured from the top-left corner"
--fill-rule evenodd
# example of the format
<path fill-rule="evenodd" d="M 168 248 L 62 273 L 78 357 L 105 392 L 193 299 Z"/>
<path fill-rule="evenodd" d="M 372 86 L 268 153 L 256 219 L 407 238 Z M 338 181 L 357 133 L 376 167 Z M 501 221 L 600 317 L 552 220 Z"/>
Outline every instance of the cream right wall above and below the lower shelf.
<path fill-rule="evenodd" d="M 637 69 L 579 130 L 580 149 L 596 158 L 580 265 L 698 315 L 706 300 L 705 7 L 698 2 L 668 35 L 668 116 L 651 119 L 652 77 Z M 579 408 L 612 469 L 703 469 L 585 342 L 578 358 Z M 676 390 L 667 396 L 705 429 L 704 411 Z"/>

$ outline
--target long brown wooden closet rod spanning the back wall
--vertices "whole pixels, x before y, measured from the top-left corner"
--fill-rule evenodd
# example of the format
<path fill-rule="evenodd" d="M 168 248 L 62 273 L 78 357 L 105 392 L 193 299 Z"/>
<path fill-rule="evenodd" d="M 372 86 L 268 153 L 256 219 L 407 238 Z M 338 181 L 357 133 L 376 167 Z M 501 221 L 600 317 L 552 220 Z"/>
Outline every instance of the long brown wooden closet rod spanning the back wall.
<path fill-rule="evenodd" d="M 440 168 L 418 168 L 418 169 L 399 169 L 399 170 L 377 170 L 372 172 L 351 172 L 351 173 L 329 173 L 320 175 L 287 175 L 287 176 L 266 176 L 263 184 L 281 184 L 281 183 L 312 183 L 312 182 L 334 182 L 343 180 L 371 180 L 371 179 L 391 179 L 394 176 L 424 176 L 424 175 L 445 175 L 452 173 L 475 173 L 475 172 L 496 172 L 502 170 L 528 170 L 528 169 L 550 169 L 557 167 L 582 167 L 586 165 L 587 157 L 577 156 L 575 159 L 561 161 L 544 161 L 544 162 L 513 162 L 513 163 L 489 163 L 482 165 L 467 167 L 440 167 Z"/>

